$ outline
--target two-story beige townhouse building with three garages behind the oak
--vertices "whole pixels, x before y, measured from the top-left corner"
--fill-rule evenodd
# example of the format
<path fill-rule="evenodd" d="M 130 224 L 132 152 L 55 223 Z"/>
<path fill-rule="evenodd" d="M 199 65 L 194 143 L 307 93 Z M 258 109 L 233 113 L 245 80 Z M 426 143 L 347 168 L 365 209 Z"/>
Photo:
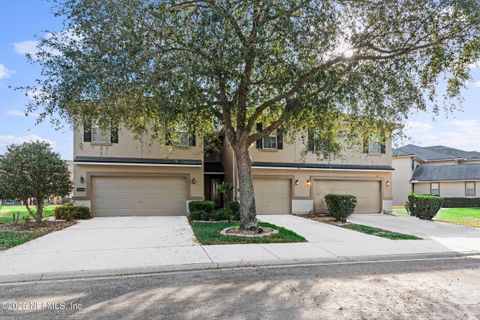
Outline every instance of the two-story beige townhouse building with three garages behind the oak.
<path fill-rule="evenodd" d="M 178 134 L 178 133 L 177 133 Z M 182 132 L 180 132 L 182 134 Z M 204 152 L 198 137 L 181 145 L 135 138 L 127 130 L 78 128 L 74 132 L 74 199 L 95 216 L 183 215 L 191 200 L 219 202 L 216 187 L 238 179 L 233 150 Z M 318 160 L 298 134 L 293 142 L 273 133 L 250 148 L 259 214 L 325 212 L 327 193 L 353 194 L 357 212 L 391 210 L 391 144 L 348 148 L 335 160 Z"/>

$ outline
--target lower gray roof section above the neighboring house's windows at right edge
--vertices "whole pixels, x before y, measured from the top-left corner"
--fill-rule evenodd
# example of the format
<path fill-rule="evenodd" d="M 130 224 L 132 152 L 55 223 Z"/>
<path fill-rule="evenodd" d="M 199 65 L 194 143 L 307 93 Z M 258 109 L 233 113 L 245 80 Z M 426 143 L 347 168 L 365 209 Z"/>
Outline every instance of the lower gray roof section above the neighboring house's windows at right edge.
<path fill-rule="evenodd" d="M 480 163 L 446 166 L 418 166 L 413 172 L 414 181 L 465 181 L 480 180 Z"/>

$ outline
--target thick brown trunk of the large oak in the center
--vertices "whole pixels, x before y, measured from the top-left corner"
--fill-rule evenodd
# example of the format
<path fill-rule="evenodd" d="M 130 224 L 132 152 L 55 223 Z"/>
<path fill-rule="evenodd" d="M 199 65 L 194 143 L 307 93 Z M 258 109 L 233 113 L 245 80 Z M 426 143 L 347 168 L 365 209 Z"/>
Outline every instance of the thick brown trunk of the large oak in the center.
<path fill-rule="evenodd" d="M 238 182 L 240 189 L 240 229 L 257 229 L 257 212 L 253 192 L 252 161 L 246 143 L 235 148 L 237 160 Z"/>

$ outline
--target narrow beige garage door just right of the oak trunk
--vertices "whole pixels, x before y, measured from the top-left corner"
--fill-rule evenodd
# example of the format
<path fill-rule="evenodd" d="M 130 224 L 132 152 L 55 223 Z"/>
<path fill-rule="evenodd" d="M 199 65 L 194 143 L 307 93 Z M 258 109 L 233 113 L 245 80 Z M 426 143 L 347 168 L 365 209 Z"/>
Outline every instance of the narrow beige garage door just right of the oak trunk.
<path fill-rule="evenodd" d="M 291 206 L 290 180 L 255 179 L 255 204 L 258 214 L 288 214 Z"/>

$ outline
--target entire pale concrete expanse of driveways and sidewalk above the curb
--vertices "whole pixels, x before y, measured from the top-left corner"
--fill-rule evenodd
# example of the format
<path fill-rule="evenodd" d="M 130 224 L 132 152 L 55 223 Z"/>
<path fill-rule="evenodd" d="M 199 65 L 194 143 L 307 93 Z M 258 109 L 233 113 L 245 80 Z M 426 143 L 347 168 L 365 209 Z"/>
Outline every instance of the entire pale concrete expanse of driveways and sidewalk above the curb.
<path fill-rule="evenodd" d="M 293 215 L 259 219 L 308 242 L 203 246 L 185 217 L 95 218 L 1 252 L 0 282 L 480 253 L 480 243 L 394 241 Z"/>

